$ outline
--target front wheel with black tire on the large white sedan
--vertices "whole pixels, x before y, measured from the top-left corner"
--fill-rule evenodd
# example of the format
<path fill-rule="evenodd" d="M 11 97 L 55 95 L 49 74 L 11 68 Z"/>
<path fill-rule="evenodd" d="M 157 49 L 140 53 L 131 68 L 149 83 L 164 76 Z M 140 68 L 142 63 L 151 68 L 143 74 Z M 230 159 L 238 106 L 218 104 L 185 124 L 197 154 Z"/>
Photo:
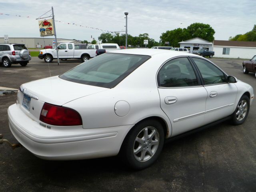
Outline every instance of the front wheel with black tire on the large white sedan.
<path fill-rule="evenodd" d="M 243 95 L 236 106 L 236 110 L 232 114 L 232 119 L 231 119 L 232 124 L 234 125 L 243 124 L 248 116 L 249 110 L 250 110 L 250 99 L 248 98 L 247 95 Z"/>

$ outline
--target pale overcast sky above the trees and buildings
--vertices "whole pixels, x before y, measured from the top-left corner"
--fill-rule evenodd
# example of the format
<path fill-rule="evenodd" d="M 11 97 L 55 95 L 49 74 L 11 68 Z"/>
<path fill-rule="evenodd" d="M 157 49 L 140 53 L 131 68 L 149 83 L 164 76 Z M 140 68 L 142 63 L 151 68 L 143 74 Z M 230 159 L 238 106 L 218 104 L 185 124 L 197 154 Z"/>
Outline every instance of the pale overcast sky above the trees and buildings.
<path fill-rule="evenodd" d="M 124 12 L 129 12 L 128 34 L 132 36 L 148 33 L 159 41 L 166 30 L 200 22 L 214 28 L 215 40 L 228 40 L 252 30 L 256 24 L 255 4 L 254 0 L 0 0 L 0 38 L 40 37 L 36 18 L 53 6 L 55 20 L 61 21 L 56 22 L 57 38 L 90 42 L 92 36 L 98 40 L 101 30 L 80 25 L 123 31 Z"/>

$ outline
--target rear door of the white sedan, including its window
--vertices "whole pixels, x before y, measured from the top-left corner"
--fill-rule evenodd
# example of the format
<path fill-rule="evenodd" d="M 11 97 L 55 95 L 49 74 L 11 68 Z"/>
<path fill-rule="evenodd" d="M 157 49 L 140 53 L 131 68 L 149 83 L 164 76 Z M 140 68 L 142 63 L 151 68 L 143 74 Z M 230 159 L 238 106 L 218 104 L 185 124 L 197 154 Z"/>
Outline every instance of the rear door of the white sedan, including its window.
<path fill-rule="evenodd" d="M 169 60 L 158 71 L 160 106 L 172 124 L 172 136 L 204 124 L 207 92 L 187 57 Z"/>

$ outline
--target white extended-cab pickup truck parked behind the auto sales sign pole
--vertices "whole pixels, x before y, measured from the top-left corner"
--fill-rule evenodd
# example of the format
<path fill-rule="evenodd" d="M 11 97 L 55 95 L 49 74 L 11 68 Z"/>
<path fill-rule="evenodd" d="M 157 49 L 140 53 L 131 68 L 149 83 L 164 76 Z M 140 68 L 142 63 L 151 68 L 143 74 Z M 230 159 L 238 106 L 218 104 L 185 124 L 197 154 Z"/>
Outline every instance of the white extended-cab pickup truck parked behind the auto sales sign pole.
<path fill-rule="evenodd" d="M 61 43 L 58 45 L 58 55 L 61 60 L 74 58 L 87 61 L 89 58 L 96 56 L 96 50 L 87 49 L 85 44 Z M 57 59 L 57 50 L 56 48 L 42 49 L 39 51 L 38 58 L 50 63 L 52 60 Z"/>

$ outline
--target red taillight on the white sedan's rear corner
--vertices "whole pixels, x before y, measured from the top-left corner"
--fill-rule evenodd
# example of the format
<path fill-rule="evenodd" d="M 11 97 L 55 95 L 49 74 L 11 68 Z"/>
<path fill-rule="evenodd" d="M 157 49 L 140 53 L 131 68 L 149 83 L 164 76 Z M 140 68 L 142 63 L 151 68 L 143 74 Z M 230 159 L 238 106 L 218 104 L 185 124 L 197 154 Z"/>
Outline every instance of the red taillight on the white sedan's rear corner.
<path fill-rule="evenodd" d="M 44 103 L 40 121 L 56 126 L 82 125 L 82 118 L 75 110 L 48 103 Z"/>

